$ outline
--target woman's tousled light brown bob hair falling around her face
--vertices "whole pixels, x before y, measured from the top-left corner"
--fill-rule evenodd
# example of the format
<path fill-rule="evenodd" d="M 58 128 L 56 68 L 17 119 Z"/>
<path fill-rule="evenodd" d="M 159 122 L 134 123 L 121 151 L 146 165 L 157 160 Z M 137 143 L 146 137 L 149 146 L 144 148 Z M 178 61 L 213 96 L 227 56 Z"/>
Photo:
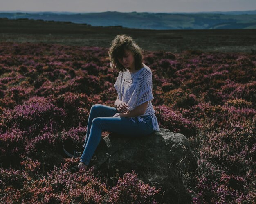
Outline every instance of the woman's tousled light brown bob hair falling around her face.
<path fill-rule="evenodd" d="M 117 69 L 118 71 L 126 71 L 127 69 L 121 65 L 118 58 L 124 57 L 124 50 L 130 50 L 134 55 L 135 70 L 141 68 L 142 65 L 142 49 L 134 42 L 134 40 L 127 35 L 117 35 L 111 42 L 110 49 L 108 51 L 110 59 L 110 67 Z"/>

